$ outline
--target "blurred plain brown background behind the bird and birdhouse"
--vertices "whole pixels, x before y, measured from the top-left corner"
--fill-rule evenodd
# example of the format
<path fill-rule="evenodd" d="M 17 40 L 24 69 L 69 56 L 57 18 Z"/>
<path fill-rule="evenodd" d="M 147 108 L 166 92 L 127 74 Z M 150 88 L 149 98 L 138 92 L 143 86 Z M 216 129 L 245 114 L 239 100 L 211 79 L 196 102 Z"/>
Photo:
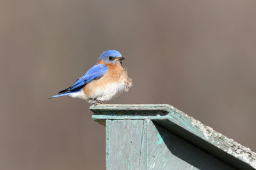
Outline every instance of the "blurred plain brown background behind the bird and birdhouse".
<path fill-rule="evenodd" d="M 256 150 L 256 1 L 0 1 L 0 169 L 105 169 L 81 99 L 47 99 L 115 49 L 109 103 L 167 103 Z"/>

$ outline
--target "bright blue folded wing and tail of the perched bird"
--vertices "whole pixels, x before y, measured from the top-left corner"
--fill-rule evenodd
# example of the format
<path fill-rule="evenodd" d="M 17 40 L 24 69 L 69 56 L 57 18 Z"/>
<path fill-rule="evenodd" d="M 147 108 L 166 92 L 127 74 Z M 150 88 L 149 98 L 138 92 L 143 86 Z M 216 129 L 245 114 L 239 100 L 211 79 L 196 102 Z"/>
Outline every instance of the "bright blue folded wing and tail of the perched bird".
<path fill-rule="evenodd" d="M 102 77 L 105 73 L 107 73 L 108 67 L 104 64 L 97 64 L 90 68 L 81 78 L 79 78 L 72 86 L 68 87 L 68 89 L 61 90 L 58 95 L 53 97 L 67 96 L 72 92 L 78 92 L 83 89 L 84 85 L 90 83 L 93 80 L 97 80 Z"/>

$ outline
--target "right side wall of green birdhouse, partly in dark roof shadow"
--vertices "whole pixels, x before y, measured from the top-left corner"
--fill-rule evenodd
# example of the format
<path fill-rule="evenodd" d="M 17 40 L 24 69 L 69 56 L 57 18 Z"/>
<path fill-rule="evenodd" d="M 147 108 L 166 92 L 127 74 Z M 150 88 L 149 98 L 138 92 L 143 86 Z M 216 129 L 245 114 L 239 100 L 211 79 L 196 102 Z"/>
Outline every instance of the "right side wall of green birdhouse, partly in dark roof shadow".
<path fill-rule="evenodd" d="M 148 169 L 234 170 L 152 121 L 148 122 L 148 132 Z"/>

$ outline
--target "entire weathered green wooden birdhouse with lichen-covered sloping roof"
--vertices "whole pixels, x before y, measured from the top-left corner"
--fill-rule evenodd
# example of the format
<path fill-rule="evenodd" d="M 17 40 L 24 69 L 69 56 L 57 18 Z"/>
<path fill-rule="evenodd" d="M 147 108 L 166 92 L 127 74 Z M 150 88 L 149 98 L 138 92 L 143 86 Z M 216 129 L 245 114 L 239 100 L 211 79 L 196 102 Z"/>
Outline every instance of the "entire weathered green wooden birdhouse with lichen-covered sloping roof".
<path fill-rule="evenodd" d="M 168 104 L 98 104 L 90 110 L 106 125 L 107 169 L 256 169 L 250 148 Z"/>

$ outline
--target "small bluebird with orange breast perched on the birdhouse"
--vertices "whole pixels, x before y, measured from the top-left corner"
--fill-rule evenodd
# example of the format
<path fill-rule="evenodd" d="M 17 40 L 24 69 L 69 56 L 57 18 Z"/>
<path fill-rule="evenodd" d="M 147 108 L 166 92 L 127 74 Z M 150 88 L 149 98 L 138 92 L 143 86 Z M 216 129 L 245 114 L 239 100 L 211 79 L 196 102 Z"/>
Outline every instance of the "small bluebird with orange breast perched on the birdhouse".
<path fill-rule="evenodd" d="M 122 66 L 124 59 L 116 50 L 103 52 L 96 64 L 73 85 L 49 98 L 70 96 L 92 104 L 106 103 L 132 86 L 132 80 Z"/>

